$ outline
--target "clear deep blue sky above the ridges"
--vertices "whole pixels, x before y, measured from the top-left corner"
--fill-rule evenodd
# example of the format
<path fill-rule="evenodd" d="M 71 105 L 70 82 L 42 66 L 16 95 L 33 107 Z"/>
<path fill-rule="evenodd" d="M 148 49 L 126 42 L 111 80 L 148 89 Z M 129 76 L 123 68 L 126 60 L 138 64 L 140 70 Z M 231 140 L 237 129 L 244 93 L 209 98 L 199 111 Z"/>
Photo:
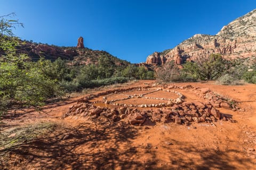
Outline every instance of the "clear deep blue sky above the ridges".
<path fill-rule="evenodd" d="M 133 0 L 0 0 L 0 16 L 17 14 L 25 28 L 17 36 L 37 43 L 106 50 L 132 63 L 205 33 L 256 8 L 255 0 L 133 1 Z"/>

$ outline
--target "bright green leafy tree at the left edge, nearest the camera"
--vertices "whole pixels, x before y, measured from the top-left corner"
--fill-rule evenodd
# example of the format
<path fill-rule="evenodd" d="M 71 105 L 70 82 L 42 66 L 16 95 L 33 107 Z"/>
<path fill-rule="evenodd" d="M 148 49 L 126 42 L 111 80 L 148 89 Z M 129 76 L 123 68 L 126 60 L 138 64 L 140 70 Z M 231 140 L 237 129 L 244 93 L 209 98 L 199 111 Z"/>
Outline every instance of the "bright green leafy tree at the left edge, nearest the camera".
<path fill-rule="evenodd" d="M 57 84 L 42 70 L 29 62 L 29 57 L 17 54 L 19 39 L 12 29 L 20 24 L 0 16 L 0 113 L 25 106 L 42 106 L 49 97 L 60 95 Z M 14 107 L 15 106 L 15 107 Z"/>

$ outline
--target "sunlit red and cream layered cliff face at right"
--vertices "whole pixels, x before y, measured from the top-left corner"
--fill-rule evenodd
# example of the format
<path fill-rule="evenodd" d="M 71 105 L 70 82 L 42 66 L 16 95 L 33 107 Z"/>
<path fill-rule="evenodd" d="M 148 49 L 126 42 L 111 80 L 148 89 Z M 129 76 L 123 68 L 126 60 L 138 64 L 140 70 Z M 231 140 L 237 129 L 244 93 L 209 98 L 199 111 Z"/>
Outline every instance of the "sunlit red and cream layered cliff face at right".
<path fill-rule="evenodd" d="M 173 49 L 155 52 L 146 63 L 162 65 L 174 60 L 176 64 L 195 61 L 219 53 L 227 59 L 256 56 L 256 10 L 224 26 L 217 35 L 196 34 Z"/>

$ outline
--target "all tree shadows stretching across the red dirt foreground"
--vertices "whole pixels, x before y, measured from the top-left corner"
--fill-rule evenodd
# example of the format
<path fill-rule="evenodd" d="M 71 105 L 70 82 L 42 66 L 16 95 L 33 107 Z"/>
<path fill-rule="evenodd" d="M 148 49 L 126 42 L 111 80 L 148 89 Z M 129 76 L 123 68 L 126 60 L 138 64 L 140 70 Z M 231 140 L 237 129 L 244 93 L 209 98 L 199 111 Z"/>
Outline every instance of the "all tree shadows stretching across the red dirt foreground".
<path fill-rule="evenodd" d="M 169 162 L 159 164 L 154 148 L 132 145 L 138 130 L 126 124 L 85 123 L 77 127 L 59 127 L 47 137 L 13 147 L 7 160 L 0 159 L 1 169 L 239 169 L 249 158 L 237 157 L 238 150 L 197 149 L 191 143 L 171 141 L 165 148 Z M 149 161 L 138 159 L 145 154 Z M 189 155 L 189 156 L 188 156 Z M 191 156 L 193 155 L 193 156 Z M 225 159 L 223 159 L 225 157 Z M 151 159 L 152 158 L 152 159 Z M 239 167 L 231 165 L 236 162 Z M 241 167 L 240 167 L 241 166 Z M 14 168 L 15 169 L 15 168 Z"/>

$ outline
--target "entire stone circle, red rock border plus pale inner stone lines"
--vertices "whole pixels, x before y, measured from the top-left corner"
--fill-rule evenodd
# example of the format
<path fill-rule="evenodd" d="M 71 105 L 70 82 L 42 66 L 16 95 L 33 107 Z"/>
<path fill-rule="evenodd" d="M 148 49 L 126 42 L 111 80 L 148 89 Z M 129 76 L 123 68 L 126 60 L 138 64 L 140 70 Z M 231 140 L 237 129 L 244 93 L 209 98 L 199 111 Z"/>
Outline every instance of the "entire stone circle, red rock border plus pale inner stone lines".
<path fill-rule="evenodd" d="M 156 87 L 154 87 L 156 88 Z M 193 86 L 160 86 L 157 89 L 153 87 L 132 87 L 119 88 L 114 90 L 107 90 L 84 96 L 77 100 L 77 104 L 71 106 L 69 111 L 63 114 L 63 118 L 67 116 L 75 116 L 76 118 L 86 117 L 91 120 L 98 121 L 127 121 L 132 125 L 154 125 L 157 122 L 189 125 L 192 122 L 212 123 L 218 120 L 235 122 L 231 117 L 221 114 L 217 109 L 219 107 L 225 109 L 236 109 L 234 105 L 228 103 L 228 100 L 221 96 L 214 94 L 208 88 L 198 88 Z M 186 101 L 186 96 L 179 91 L 194 91 L 200 98 L 200 101 Z M 127 95 L 134 91 L 141 91 L 137 95 Z M 144 92 L 145 91 L 145 92 Z M 147 94 L 153 94 L 157 91 L 170 92 L 176 94 L 178 97 L 161 98 L 161 97 L 147 97 Z M 124 98 L 108 100 L 111 96 L 121 95 Z M 94 101 L 96 98 L 101 99 Z M 124 102 L 128 99 L 156 99 L 164 101 L 161 104 L 147 104 L 147 105 L 126 105 Z M 203 100 L 203 101 L 201 101 Z M 167 101 L 167 102 L 166 102 Z"/>

